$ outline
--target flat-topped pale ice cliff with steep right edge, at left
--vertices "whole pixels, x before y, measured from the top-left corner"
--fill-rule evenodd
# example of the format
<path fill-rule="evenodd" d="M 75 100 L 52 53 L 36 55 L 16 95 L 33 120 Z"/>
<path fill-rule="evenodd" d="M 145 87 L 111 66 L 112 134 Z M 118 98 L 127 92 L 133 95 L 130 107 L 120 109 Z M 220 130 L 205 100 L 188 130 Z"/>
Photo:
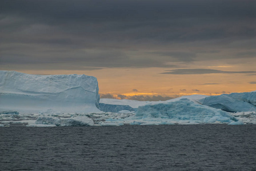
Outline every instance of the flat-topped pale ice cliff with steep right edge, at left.
<path fill-rule="evenodd" d="M 30 75 L 0 71 L 0 110 L 95 112 L 98 82 L 87 75 Z"/>

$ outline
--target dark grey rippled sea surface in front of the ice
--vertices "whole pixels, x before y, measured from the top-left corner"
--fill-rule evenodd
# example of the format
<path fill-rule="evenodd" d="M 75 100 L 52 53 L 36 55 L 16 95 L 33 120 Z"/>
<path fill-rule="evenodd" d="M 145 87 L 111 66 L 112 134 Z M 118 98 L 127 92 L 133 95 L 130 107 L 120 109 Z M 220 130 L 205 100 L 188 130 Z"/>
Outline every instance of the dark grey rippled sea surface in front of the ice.
<path fill-rule="evenodd" d="M 0 170 L 256 170 L 256 125 L 0 127 Z"/>

